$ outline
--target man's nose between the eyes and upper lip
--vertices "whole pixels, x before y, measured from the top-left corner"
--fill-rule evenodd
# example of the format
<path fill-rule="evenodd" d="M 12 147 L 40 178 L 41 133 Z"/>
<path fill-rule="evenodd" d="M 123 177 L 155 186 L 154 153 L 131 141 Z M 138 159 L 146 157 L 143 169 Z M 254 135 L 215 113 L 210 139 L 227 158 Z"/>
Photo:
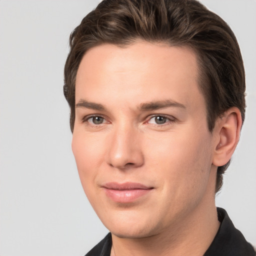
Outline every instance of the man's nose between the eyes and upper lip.
<path fill-rule="evenodd" d="M 144 163 L 140 131 L 132 125 L 116 127 L 109 136 L 108 164 L 118 169 L 139 167 Z"/>

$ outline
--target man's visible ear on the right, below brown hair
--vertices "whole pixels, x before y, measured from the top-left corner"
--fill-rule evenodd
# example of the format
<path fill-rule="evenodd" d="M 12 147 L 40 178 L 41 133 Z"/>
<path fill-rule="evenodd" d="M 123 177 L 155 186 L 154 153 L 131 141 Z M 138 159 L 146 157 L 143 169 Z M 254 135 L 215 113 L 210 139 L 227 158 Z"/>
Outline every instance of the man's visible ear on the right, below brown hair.
<path fill-rule="evenodd" d="M 231 158 L 239 140 L 241 125 L 241 113 L 237 107 L 229 108 L 216 120 L 212 160 L 215 166 L 222 166 Z"/>

